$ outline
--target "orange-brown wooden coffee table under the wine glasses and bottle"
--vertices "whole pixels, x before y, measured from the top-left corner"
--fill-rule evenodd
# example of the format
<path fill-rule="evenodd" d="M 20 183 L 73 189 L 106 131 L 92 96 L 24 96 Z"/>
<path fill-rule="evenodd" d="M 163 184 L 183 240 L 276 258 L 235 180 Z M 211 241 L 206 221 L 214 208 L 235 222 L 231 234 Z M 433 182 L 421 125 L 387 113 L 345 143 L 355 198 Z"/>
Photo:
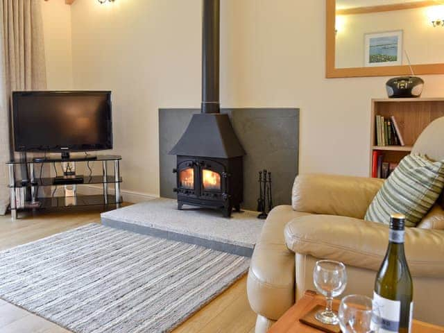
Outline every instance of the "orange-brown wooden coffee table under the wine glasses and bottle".
<path fill-rule="evenodd" d="M 314 291 L 306 291 L 304 297 L 293 305 L 284 315 L 271 326 L 268 333 L 319 333 L 320 330 L 304 325 L 299 322 L 299 318 L 307 314 L 314 306 L 325 306 L 325 298 L 317 295 Z M 334 300 L 333 308 L 337 310 L 339 300 Z M 413 320 L 413 333 L 444 333 L 444 327 L 422 323 Z"/>

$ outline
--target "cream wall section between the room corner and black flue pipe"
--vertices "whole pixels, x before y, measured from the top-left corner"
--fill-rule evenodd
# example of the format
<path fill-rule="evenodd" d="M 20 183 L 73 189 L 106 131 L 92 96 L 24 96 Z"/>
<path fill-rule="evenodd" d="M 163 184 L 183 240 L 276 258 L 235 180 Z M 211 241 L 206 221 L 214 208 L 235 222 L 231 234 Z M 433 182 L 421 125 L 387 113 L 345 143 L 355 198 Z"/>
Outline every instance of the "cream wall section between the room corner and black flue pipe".
<path fill-rule="evenodd" d="M 157 109 L 200 104 L 200 0 L 77 0 L 71 10 L 74 88 L 112 90 L 122 187 L 157 195 Z"/>

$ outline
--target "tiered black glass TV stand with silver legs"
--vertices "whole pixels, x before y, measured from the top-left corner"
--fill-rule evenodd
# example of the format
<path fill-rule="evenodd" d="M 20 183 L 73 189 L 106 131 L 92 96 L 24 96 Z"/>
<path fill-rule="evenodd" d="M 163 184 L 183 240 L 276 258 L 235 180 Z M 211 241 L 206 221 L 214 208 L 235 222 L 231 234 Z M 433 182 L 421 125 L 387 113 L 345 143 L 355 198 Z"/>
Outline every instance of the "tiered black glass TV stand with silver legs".
<path fill-rule="evenodd" d="M 69 183 L 66 184 L 58 183 L 54 184 L 55 178 L 53 177 L 38 177 L 37 170 L 42 167 L 45 163 L 60 163 L 60 162 L 101 162 L 102 163 L 102 174 L 101 175 L 91 175 L 83 176 L 83 182 L 77 184 Z M 61 207 L 79 207 L 79 206 L 90 206 L 90 205 L 101 205 L 108 207 L 110 205 L 115 205 L 115 207 L 120 207 L 123 202 L 120 191 L 120 183 L 123 181 L 120 176 L 120 155 L 78 155 L 72 156 L 68 159 L 60 157 L 37 157 L 28 158 L 26 160 L 14 160 L 7 164 L 9 171 L 9 184 L 10 189 L 10 210 L 12 219 L 17 219 L 17 212 L 24 210 L 36 210 L 40 208 L 61 208 Z M 108 174 L 108 162 L 114 164 L 114 173 L 112 175 Z M 36 167 L 38 165 L 38 167 Z M 23 168 L 26 166 L 29 173 L 29 180 L 24 181 L 23 179 L 17 179 L 16 169 Z M 38 168 L 38 169 L 37 169 Z M 40 197 L 38 196 L 39 187 L 51 187 L 51 186 L 64 186 L 64 185 L 92 185 L 92 184 L 102 184 L 103 194 L 101 195 L 77 195 L 74 196 L 48 196 Z M 108 194 L 108 185 L 114 184 L 114 195 Z M 18 191 L 29 191 L 31 189 L 31 200 L 26 202 L 24 207 L 17 206 L 17 189 Z M 23 193 L 23 192 L 22 192 Z"/>

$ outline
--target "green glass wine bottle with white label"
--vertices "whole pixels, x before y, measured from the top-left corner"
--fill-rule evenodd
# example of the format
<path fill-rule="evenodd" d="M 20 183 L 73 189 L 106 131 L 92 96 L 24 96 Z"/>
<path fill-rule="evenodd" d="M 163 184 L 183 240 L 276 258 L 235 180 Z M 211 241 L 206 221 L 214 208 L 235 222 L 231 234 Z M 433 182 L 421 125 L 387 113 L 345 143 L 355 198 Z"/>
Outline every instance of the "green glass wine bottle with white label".
<path fill-rule="evenodd" d="M 391 215 L 388 248 L 376 275 L 373 300 L 381 314 L 381 333 L 411 332 L 413 283 L 404 253 L 404 225 L 404 215 Z"/>

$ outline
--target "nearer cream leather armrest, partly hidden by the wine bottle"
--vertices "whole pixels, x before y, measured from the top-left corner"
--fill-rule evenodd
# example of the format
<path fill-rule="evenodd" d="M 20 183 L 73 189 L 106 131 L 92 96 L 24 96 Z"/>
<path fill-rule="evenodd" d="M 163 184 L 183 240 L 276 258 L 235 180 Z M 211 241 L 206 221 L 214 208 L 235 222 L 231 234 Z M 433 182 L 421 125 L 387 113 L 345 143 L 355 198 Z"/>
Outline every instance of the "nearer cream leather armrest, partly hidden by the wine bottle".
<path fill-rule="evenodd" d="M 343 216 L 302 216 L 285 228 L 295 253 L 377 271 L 388 244 L 388 226 Z M 407 228 L 407 262 L 413 276 L 444 278 L 444 231 Z"/>

